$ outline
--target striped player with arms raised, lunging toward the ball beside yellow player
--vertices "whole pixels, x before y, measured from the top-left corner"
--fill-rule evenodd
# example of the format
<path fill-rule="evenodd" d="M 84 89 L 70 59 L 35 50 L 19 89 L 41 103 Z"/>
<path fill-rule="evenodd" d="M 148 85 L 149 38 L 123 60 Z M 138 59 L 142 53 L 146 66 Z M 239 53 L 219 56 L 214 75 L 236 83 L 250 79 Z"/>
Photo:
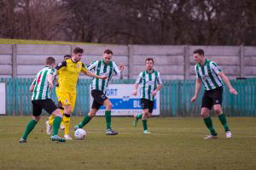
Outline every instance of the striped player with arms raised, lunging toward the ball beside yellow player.
<path fill-rule="evenodd" d="M 106 91 L 108 89 L 108 83 L 111 81 L 113 73 L 118 75 L 119 78 L 122 78 L 122 71 L 124 70 L 124 65 L 120 64 L 119 67 L 111 61 L 113 57 L 113 52 L 110 49 L 106 49 L 103 54 L 103 59 L 92 62 L 87 66 L 88 70 L 95 71 L 96 75 L 108 76 L 107 80 L 100 80 L 94 78 L 91 85 L 91 95 L 94 98 L 90 112 L 88 115 L 84 116 L 83 122 L 80 122 L 79 125 L 76 125 L 74 129 L 84 127 L 90 119 L 96 115 L 96 112 L 100 109 L 102 105 L 105 105 L 105 117 L 106 117 L 106 134 L 107 135 L 116 135 L 117 132 L 113 131 L 111 127 L 111 108 L 112 103 L 106 96 Z"/>

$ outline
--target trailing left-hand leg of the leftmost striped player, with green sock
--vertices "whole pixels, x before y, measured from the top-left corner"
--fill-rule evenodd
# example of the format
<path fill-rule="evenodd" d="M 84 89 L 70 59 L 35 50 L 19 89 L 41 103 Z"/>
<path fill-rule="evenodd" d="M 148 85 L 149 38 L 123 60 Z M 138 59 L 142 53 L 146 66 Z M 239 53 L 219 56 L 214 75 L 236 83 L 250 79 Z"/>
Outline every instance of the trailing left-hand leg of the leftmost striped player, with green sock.
<path fill-rule="evenodd" d="M 32 132 L 33 128 L 38 124 L 41 118 L 42 106 L 38 103 L 38 100 L 32 100 L 32 110 L 32 120 L 27 123 L 25 132 L 20 139 L 20 143 L 26 143 L 28 134 Z"/>

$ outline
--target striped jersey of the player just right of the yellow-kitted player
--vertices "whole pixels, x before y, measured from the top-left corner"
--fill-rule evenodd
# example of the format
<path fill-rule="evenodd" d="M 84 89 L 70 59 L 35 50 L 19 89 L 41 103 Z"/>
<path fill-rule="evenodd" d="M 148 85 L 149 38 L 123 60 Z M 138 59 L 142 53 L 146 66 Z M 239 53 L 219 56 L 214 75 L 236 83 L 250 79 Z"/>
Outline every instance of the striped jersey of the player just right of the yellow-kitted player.
<path fill-rule="evenodd" d="M 113 61 L 110 61 L 108 65 L 106 65 L 103 59 L 96 60 L 90 65 L 87 65 L 86 68 L 90 71 L 94 70 L 94 73 L 98 76 L 108 76 L 106 80 L 95 77 L 92 79 L 91 89 L 101 90 L 103 94 L 107 92 L 108 83 L 111 81 L 113 73 L 120 77 L 119 68 Z"/>

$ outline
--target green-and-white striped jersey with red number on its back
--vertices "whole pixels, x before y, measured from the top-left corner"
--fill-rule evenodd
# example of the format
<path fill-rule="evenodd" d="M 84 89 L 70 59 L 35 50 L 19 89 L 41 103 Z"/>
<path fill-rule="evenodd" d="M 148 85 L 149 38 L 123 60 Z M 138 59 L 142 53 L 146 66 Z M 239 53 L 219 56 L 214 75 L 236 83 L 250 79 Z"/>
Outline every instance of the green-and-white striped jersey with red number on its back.
<path fill-rule="evenodd" d="M 38 72 L 37 77 L 32 84 L 35 86 L 32 92 L 32 100 L 49 99 L 50 88 L 47 81 L 47 75 L 55 76 L 55 69 L 45 66 L 44 69 Z"/>

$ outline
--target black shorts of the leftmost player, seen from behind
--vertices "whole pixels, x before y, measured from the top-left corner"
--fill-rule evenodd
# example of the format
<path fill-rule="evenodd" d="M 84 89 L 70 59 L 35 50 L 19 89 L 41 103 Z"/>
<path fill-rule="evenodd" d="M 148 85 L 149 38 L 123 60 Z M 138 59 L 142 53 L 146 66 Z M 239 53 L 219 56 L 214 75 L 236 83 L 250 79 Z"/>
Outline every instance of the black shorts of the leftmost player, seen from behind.
<path fill-rule="evenodd" d="M 55 102 L 51 99 L 36 99 L 32 100 L 33 105 L 33 116 L 40 116 L 42 110 L 44 109 L 49 114 L 54 112 L 57 109 Z"/>

